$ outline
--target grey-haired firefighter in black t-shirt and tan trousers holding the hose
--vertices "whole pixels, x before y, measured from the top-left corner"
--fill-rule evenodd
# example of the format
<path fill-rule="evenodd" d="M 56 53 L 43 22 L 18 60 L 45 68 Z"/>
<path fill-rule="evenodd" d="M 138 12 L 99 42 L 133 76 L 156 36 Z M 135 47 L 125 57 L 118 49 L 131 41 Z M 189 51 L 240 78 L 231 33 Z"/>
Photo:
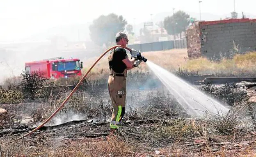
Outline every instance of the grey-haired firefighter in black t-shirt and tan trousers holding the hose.
<path fill-rule="evenodd" d="M 128 44 L 126 33 L 119 32 L 116 35 L 117 45 L 126 46 Z M 110 75 L 107 86 L 112 101 L 112 117 L 110 122 L 110 133 L 115 133 L 125 113 L 126 106 L 126 75 L 127 70 L 138 67 L 142 62 L 136 60 L 139 53 L 132 49 L 131 58 L 128 57 L 126 49 L 117 47 L 108 56 Z"/>

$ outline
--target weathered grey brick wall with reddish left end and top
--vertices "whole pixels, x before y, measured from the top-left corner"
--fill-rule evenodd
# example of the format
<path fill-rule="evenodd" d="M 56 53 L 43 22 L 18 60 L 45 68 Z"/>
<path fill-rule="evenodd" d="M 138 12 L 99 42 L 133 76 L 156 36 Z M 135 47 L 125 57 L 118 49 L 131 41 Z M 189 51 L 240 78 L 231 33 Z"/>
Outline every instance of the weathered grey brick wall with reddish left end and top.
<path fill-rule="evenodd" d="M 239 44 L 241 53 L 256 51 L 256 19 L 197 22 L 186 30 L 186 35 L 190 58 L 200 55 L 208 59 L 228 56 L 233 41 Z"/>

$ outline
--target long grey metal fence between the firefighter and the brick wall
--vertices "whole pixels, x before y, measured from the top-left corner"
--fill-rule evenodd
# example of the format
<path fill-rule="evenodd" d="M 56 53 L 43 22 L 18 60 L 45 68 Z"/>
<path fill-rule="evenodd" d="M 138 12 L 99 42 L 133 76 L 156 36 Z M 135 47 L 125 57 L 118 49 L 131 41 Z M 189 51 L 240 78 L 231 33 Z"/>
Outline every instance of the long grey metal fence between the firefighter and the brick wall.
<path fill-rule="evenodd" d="M 169 41 L 162 41 L 162 42 L 133 44 L 128 46 L 129 48 L 140 50 L 142 52 L 162 51 L 162 50 L 169 50 L 169 49 L 187 49 L 187 40 L 186 39 L 169 40 Z"/>

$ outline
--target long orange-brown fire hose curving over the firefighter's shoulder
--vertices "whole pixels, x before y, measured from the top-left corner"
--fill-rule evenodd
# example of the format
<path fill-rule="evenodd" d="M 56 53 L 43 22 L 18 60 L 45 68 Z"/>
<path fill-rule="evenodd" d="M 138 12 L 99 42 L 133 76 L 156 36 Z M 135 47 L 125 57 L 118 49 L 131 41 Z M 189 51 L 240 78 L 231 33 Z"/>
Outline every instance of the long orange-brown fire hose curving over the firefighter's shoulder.
<path fill-rule="evenodd" d="M 78 82 L 78 84 L 75 86 L 75 88 L 71 91 L 71 93 L 69 94 L 68 97 L 66 97 L 66 99 L 64 100 L 64 102 L 62 102 L 62 104 L 59 106 L 59 108 L 57 108 L 57 110 L 48 118 L 46 119 L 42 124 L 40 124 L 39 126 L 37 126 L 36 128 L 34 128 L 32 131 L 30 131 L 29 133 L 17 138 L 17 139 L 14 139 L 10 142 L 7 142 L 7 143 L 4 143 L 4 144 L 9 144 L 9 143 L 12 143 L 14 141 L 17 141 L 19 139 L 22 139 L 26 136 L 29 136 L 31 135 L 32 133 L 34 133 L 36 130 L 38 130 L 39 128 L 41 128 L 42 126 L 44 126 L 50 119 L 52 119 L 57 112 L 60 111 L 60 109 L 64 106 L 64 104 L 69 100 L 69 98 L 71 97 L 71 95 L 76 91 L 76 89 L 78 88 L 78 86 L 82 83 L 82 81 L 85 79 L 85 77 L 89 74 L 89 72 L 91 71 L 91 69 L 97 64 L 97 62 L 99 60 L 101 60 L 101 58 L 107 53 L 109 52 L 110 50 L 116 48 L 116 47 L 123 47 L 124 49 L 127 49 L 128 51 L 132 51 L 131 49 L 129 49 L 128 47 L 125 47 L 125 46 L 121 46 L 121 45 L 116 45 L 116 46 L 112 46 L 110 47 L 109 49 L 107 49 L 107 51 L 105 51 L 97 60 L 96 62 L 94 62 L 94 64 L 90 67 L 90 69 L 85 73 L 85 75 L 80 79 L 80 81 Z M 0 145 L 4 145 L 4 144 L 0 144 Z"/>

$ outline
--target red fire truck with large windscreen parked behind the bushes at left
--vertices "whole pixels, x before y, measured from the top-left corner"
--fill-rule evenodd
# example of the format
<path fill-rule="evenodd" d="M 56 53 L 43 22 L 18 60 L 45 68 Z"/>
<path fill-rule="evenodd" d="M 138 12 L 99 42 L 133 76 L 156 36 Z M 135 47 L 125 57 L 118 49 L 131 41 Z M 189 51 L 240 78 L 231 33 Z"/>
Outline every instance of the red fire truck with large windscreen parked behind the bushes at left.
<path fill-rule="evenodd" d="M 56 57 L 25 63 L 25 71 L 27 73 L 37 72 L 48 79 L 80 76 L 82 75 L 82 68 L 82 62 L 77 58 L 64 59 L 63 57 Z"/>

